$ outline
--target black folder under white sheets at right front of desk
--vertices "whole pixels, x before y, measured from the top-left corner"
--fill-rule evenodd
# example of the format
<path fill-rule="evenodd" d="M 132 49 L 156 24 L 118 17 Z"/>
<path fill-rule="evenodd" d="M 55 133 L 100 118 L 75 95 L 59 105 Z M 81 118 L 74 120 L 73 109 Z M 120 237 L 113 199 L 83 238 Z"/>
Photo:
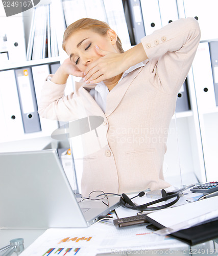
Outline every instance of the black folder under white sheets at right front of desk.
<path fill-rule="evenodd" d="M 153 222 L 152 224 L 148 225 L 147 228 L 152 230 L 164 228 L 163 225 L 154 222 L 152 219 L 147 219 L 148 221 Z M 218 238 L 218 218 L 211 219 L 210 221 L 204 222 L 197 226 L 182 229 L 175 233 L 169 234 L 168 236 L 176 238 L 188 245 L 197 245 L 216 239 Z"/>

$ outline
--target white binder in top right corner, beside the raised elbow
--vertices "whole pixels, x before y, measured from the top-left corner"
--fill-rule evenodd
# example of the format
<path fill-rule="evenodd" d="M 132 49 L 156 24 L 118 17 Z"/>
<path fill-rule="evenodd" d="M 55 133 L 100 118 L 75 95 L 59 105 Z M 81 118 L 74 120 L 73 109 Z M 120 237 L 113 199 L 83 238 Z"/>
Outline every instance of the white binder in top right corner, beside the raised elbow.
<path fill-rule="evenodd" d="M 218 38 L 217 24 L 217 0 L 183 0 L 185 16 L 197 17 L 201 28 L 201 40 Z"/>

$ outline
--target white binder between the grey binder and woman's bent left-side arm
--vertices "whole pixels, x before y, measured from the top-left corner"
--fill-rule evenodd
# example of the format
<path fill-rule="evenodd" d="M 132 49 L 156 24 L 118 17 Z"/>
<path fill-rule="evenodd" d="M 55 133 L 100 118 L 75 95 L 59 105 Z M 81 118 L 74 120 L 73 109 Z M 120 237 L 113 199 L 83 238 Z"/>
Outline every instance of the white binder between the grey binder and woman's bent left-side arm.
<path fill-rule="evenodd" d="M 40 102 L 41 90 L 46 77 L 50 74 L 49 65 L 39 65 L 32 67 L 33 82 L 36 93 L 37 105 Z M 41 130 L 44 135 L 51 135 L 57 128 L 58 122 L 56 120 L 49 120 L 40 117 Z"/>

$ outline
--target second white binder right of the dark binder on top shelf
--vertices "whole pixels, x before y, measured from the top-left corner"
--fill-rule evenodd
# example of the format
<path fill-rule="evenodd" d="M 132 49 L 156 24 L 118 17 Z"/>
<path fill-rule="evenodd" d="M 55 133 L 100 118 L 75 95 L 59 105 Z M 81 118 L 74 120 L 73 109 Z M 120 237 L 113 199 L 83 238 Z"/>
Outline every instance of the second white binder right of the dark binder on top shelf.
<path fill-rule="evenodd" d="M 158 0 L 162 27 L 179 18 L 176 0 Z"/>

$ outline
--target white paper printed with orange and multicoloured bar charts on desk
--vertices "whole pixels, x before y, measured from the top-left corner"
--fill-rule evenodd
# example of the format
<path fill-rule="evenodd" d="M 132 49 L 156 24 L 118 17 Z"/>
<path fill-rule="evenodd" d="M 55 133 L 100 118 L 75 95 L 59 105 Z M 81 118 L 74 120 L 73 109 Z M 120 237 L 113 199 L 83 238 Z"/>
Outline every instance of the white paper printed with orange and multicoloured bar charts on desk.
<path fill-rule="evenodd" d="M 95 256 L 98 253 L 115 254 L 128 249 L 145 252 L 146 249 L 156 249 L 157 245 L 159 248 L 176 248 L 177 251 L 179 248 L 188 248 L 181 241 L 158 236 L 146 226 L 118 230 L 114 225 L 98 223 L 85 229 L 47 229 L 20 256 Z"/>

